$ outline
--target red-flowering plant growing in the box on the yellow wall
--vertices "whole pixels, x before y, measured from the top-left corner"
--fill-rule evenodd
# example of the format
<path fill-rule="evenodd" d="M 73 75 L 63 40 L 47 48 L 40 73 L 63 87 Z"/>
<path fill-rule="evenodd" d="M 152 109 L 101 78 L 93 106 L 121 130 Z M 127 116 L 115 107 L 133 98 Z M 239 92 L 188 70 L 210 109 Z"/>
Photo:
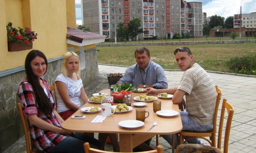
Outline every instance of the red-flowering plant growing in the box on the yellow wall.
<path fill-rule="evenodd" d="M 35 39 L 37 39 L 37 33 L 35 34 L 35 31 L 32 31 L 28 27 L 25 27 L 25 30 L 20 27 L 18 28 L 19 30 L 13 28 L 11 22 L 8 23 L 8 25 L 6 26 L 8 42 L 16 42 L 22 46 L 31 46 L 31 43 L 29 43 L 29 41 L 34 41 Z"/>

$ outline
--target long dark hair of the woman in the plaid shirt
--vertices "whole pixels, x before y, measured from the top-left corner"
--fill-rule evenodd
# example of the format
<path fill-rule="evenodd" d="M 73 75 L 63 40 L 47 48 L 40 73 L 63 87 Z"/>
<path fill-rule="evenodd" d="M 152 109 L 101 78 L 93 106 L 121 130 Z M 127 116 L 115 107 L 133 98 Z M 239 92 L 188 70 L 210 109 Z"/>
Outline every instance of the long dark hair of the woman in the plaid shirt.
<path fill-rule="evenodd" d="M 48 65 L 47 59 L 44 53 L 42 53 L 39 50 L 32 50 L 29 52 L 25 60 L 25 71 L 27 74 L 27 79 L 29 83 L 32 85 L 33 91 L 35 93 L 36 103 L 38 104 L 38 110 L 42 111 L 47 116 L 52 114 L 51 102 L 50 102 L 50 99 L 46 96 L 44 89 L 41 87 L 37 77 L 33 73 L 31 64 L 30 64 L 31 61 L 37 56 L 44 59 L 46 64 L 46 71 L 47 71 L 47 65 Z"/>

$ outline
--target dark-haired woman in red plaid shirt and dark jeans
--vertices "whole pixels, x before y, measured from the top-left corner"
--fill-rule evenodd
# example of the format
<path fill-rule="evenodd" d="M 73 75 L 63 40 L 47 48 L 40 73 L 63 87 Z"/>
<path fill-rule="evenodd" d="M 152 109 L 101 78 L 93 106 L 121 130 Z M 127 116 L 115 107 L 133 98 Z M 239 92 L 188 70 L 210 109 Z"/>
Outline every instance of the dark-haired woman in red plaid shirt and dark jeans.
<path fill-rule="evenodd" d="M 98 140 L 84 133 L 71 133 L 61 128 L 63 119 L 55 110 L 49 85 L 41 78 L 46 73 L 47 64 L 41 51 L 30 51 L 25 61 L 27 77 L 18 88 L 34 145 L 43 152 L 84 153 L 85 142 L 89 142 L 92 148 L 101 149 Z"/>

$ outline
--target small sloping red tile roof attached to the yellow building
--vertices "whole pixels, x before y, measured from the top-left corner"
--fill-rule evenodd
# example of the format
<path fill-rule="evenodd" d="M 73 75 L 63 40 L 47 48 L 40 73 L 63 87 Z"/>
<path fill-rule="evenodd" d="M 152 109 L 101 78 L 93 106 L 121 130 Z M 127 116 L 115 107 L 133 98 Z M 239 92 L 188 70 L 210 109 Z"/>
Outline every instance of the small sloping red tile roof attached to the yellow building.
<path fill-rule="evenodd" d="M 82 43 L 83 40 L 94 40 L 106 38 L 104 35 L 68 27 L 67 39 Z"/>

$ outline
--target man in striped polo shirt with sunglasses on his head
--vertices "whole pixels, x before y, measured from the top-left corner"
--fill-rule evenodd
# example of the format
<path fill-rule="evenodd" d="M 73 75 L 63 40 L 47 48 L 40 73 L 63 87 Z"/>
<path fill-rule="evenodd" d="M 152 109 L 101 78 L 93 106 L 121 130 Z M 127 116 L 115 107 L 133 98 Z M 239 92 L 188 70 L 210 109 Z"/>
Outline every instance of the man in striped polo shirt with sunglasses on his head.
<path fill-rule="evenodd" d="M 216 88 L 210 75 L 197 63 L 187 47 L 174 51 L 176 62 L 184 74 L 180 84 L 168 89 L 146 88 L 148 94 L 167 92 L 173 94 L 172 102 L 179 105 L 182 130 L 208 131 L 213 128 L 213 116 L 216 103 Z M 186 102 L 183 97 L 186 97 Z M 186 109 L 186 110 L 184 110 Z M 162 135 L 171 145 L 172 135 Z M 186 138 L 185 138 L 186 139 Z M 204 144 L 200 139 L 191 139 L 188 143 Z M 175 141 L 175 148 L 178 140 Z"/>

